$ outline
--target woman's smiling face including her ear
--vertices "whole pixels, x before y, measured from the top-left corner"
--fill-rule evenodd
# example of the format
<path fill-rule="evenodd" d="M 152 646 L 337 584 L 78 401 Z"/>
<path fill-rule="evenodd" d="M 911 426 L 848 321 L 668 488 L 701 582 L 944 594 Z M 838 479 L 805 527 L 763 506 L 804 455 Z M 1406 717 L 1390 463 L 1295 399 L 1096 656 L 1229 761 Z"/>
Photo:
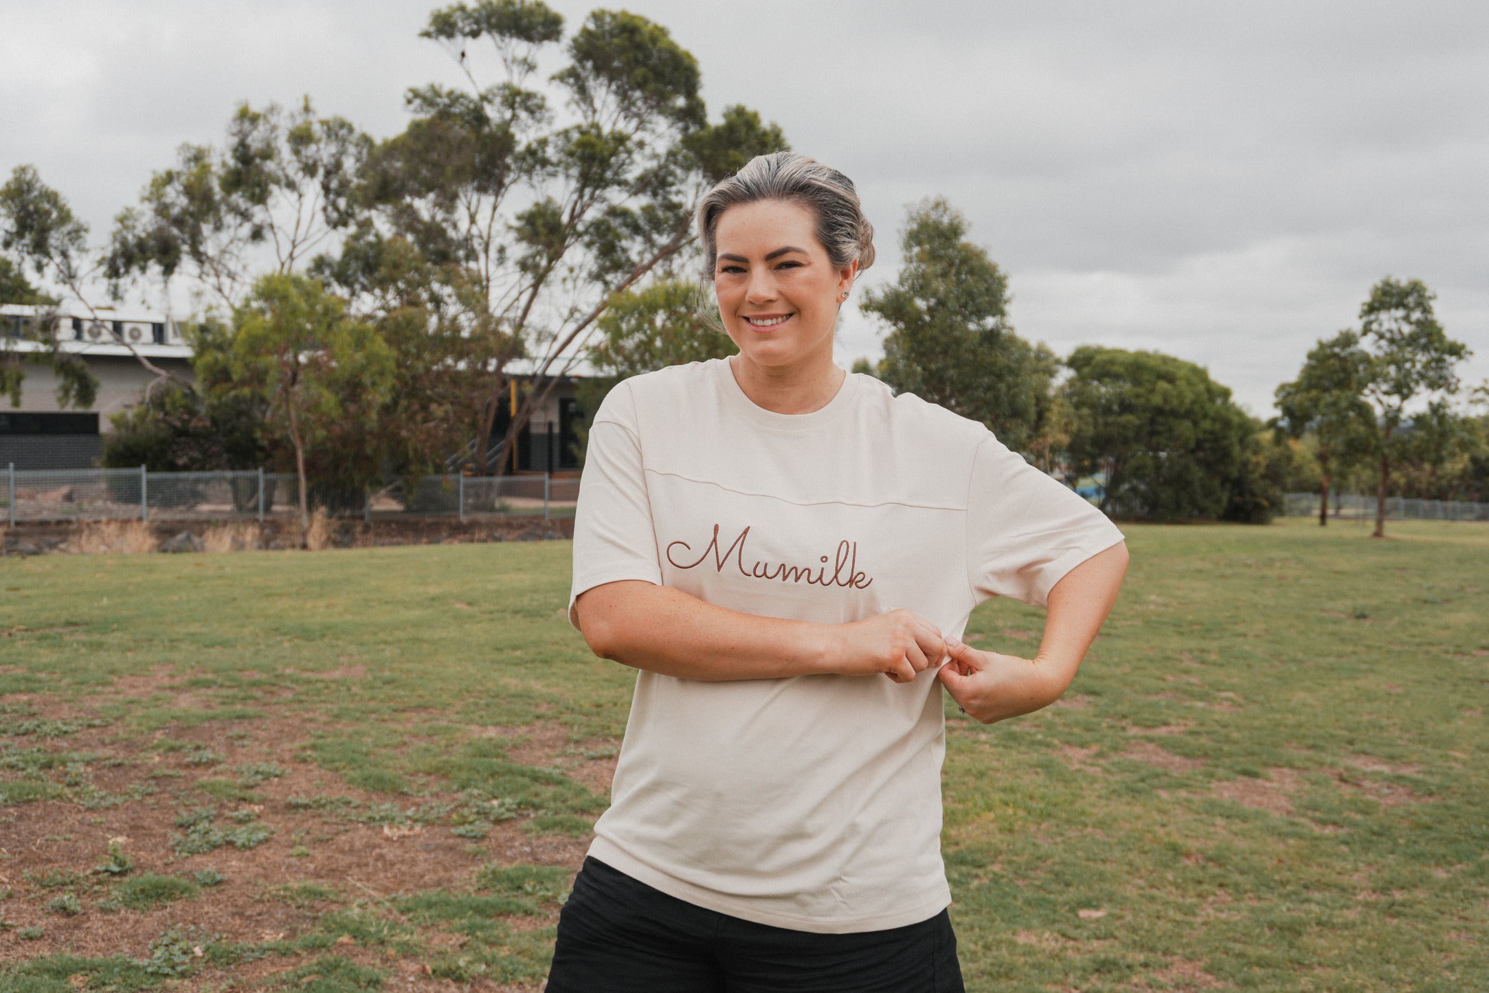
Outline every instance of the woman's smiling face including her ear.
<path fill-rule="evenodd" d="M 740 356 L 761 366 L 832 362 L 832 329 L 858 262 L 837 269 L 801 204 L 730 207 L 715 229 L 713 290 Z"/>

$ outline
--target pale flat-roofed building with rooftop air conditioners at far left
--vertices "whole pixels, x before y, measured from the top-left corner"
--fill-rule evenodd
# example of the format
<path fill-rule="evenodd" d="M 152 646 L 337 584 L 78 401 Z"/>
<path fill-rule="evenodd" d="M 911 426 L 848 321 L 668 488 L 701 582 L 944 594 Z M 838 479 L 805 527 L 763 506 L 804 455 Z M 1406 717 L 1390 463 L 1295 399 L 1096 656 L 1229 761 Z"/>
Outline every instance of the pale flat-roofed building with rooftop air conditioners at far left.
<path fill-rule="evenodd" d="M 138 403 L 155 378 L 135 353 L 176 375 L 191 378 L 191 347 L 177 322 L 147 311 L 83 307 L 0 305 L 4 351 L 43 351 L 31 341 L 37 323 L 51 325 L 64 351 L 79 356 L 98 380 L 98 396 L 86 409 L 57 405 L 57 377 L 45 365 L 24 365 L 21 405 L 0 399 L 0 467 L 85 469 L 103 453 L 109 417 Z M 25 335 L 22 338 L 22 335 Z"/>

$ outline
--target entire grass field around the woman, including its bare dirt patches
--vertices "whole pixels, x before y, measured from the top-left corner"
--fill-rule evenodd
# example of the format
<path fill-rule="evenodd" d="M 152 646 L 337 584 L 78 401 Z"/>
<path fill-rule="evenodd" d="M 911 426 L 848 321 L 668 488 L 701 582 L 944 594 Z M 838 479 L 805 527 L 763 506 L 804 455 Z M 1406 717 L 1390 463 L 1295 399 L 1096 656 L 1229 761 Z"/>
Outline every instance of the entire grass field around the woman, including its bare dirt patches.
<path fill-rule="evenodd" d="M 1489 529 L 1127 530 L 1066 698 L 950 707 L 968 989 L 1489 989 Z M 536 987 L 633 682 L 567 567 L 0 560 L 0 992 Z"/>

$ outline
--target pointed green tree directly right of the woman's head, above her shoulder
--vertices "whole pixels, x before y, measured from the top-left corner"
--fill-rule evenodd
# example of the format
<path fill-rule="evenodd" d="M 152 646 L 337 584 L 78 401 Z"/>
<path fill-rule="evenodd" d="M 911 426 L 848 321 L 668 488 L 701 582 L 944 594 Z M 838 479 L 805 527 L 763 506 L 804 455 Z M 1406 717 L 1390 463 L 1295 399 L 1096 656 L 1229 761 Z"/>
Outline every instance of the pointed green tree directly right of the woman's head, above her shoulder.
<path fill-rule="evenodd" d="M 944 199 L 910 210 L 899 277 L 861 304 L 889 326 L 879 377 L 1048 463 L 1057 360 L 1014 333 L 1008 278 L 966 231 L 966 219 Z"/>

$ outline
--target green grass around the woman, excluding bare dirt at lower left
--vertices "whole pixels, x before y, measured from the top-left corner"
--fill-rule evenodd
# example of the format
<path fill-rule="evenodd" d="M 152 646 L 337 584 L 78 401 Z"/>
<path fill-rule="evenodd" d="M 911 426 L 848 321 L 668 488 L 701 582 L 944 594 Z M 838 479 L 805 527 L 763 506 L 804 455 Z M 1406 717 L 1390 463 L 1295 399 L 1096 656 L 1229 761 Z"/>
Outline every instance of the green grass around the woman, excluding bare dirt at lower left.
<path fill-rule="evenodd" d="M 950 707 L 943 847 L 968 989 L 1489 989 L 1489 527 L 1392 523 L 1386 542 L 1303 520 L 1126 530 L 1127 588 L 1065 704 L 990 728 Z M 564 619 L 567 543 L 6 558 L 0 576 L 18 588 L 0 706 L 57 694 L 121 740 L 225 764 L 161 816 L 256 802 L 270 767 L 179 743 L 270 713 L 304 728 L 296 761 L 387 798 L 292 799 L 332 822 L 518 816 L 582 834 L 605 808 L 561 764 L 512 758 L 512 728 L 557 724 L 576 749 L 624 731 L 631 673 Z M 1029 654 L 1039 622 L 990 603 L 969 636 Z M 191 703 L 110 698 L 158 667 Z M 52 758 L 76 728 L 0 713 L 6 817 L 52 795 L 104 802 L 86 788 L 94 756 Z M 465 791 L 465 807 L 430 791 Z M 491 801 L 500 814 L 482 813 Z M 503 917 L 551 914 L 567 875 L 502 872 L 347 893 L 255 954 L 311 954 L 275 980 L 290 989 L 377 989 L 371 960 L 331 948 L 342 935 L 421 954 L 436 977 L 532 984 L 552 929 Z M 287 893 L 322 907 L 301 889 L 261 899 Z M 430 929 L 463 944 L 427 944 Z M 161 981 L 133 959 L 77 962 L 118 989 Z M 0 968 L 0 992 L 64 989 L 67 968 Z"/>

